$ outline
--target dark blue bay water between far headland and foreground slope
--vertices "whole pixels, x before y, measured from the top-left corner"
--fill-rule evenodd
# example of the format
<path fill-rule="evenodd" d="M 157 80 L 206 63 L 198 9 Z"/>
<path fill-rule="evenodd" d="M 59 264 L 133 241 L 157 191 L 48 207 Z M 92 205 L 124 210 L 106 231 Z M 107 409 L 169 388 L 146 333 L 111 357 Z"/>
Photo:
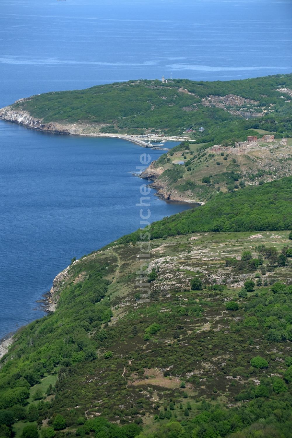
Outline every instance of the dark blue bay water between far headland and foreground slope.
<path fill-rule="evenodd" d="M 114 138 L 32 131 L 0 122 L 0 339 L 44 313 L 54 276 L 140 226 L 140 155 L 163 151 Z M 176 143 L 172 143 L 176 145 Z M 151 220 L 190 208 L 150 194 Z"/>

